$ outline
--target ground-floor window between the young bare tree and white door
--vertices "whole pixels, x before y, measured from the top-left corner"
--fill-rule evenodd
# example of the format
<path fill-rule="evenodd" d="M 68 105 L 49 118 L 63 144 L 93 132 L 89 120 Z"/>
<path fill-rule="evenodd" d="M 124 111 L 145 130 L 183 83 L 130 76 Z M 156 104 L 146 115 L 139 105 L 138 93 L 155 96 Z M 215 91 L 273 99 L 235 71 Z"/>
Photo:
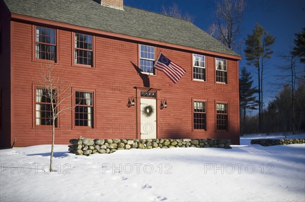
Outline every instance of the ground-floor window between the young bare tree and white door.
<path fill-rule="evenodd" d="M 75 126 L 93 125 L 93 92 L 75 91 Z"/>

